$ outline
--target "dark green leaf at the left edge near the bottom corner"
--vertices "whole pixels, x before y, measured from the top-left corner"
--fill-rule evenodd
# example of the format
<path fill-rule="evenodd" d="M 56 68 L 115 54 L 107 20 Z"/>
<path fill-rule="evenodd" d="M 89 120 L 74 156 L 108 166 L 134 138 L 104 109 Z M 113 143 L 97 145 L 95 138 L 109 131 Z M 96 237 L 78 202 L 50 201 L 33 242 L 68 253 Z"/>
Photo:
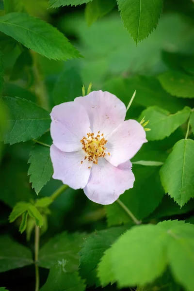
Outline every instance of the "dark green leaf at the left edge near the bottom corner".
<path fill-rule="evenodd" d="M 31 250 L 13 241 L 9 236 L 0 236 L 0 272 L 33 264 Z"/>

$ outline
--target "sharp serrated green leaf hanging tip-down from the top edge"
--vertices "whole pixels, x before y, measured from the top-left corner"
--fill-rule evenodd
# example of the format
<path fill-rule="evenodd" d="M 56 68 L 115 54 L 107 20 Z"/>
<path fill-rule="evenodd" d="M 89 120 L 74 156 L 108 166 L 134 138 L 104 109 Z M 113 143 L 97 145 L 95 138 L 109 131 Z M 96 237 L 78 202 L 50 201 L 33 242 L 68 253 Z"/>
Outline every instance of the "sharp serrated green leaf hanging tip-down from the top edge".
<path fill-rule="evenodd" d="M 138 44 L 156 28 L 162 14 L 163 1 L 117 0 L 117 2 L 124 27 Z"/>

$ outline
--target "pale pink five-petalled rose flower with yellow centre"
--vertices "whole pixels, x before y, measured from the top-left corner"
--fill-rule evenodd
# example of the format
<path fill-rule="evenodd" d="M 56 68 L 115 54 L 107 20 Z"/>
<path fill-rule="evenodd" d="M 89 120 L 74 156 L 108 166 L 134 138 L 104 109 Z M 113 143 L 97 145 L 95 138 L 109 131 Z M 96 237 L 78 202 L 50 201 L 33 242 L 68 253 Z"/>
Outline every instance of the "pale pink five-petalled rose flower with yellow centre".
<path fill-rule="evenodd" d="M 129 160 L 147 142 L 146 132 L 137 121 L 125 121 L 126 107 L 119 98 L 93 91 L 55 106 L 50 115 L 54 179 L 83 189 L 103 205 L 133 187 Z"/>

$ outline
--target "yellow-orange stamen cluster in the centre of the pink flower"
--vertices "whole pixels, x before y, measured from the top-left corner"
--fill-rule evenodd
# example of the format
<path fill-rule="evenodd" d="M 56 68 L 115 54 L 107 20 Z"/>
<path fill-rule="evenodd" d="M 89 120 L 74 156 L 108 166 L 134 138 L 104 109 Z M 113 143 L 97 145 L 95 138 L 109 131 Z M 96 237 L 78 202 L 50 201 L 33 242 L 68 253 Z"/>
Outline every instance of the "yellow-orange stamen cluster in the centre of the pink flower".
<path fill-rule="evenodd" d="M 94 136 L 94 133 L 87 133 L 87 137 L 83 137 L 81 140 L 82 149 L 85 151 L 86 156 L 84 160 L 88 159 L 88 161 L 97 164 L 98 158 L 105 157 L 106 153 L 106 145 L 107 140 L 103 137 L 103 133 L 100 135 L 100 131 L 98 131 L 97 136 Z M 110 153 L 108 153 L 110 156 Z M 81 161 L 83 163 L 83 161 Z M 90 168 L 90 167 L 89 167 Z"/>

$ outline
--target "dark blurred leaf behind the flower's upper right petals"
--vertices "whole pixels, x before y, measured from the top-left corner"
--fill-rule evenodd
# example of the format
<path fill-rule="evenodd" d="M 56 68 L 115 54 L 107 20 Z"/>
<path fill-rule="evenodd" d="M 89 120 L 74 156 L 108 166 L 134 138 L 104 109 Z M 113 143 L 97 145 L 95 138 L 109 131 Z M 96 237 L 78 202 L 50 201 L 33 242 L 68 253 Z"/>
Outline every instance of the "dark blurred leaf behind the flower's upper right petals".
<path fill-rule="evenodd" d="M 184 107 L 183 100 L 168 94 L 155 77 L 135 76 L 125 79 L 124 88 L 128 98 L 136 90 L 134 101 L 145 107 L 158 106 L 171 113 Z"/>

